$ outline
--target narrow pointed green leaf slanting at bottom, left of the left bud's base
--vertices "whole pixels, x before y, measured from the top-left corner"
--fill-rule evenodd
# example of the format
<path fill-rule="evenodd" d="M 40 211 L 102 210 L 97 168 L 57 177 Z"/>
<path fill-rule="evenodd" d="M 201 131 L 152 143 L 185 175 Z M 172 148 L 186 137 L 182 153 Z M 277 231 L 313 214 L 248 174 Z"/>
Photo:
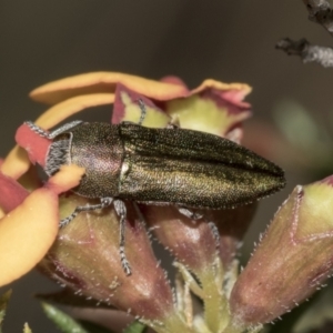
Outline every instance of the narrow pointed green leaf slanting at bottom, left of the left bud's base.
<path fill-rule="evenodd" d="M 56 324 L 56 326 L 62 333 L 90 333 L 89 331 L 83 329 L 83 326 L 79 322 L 77 322 L 70 315 L 65 314 L 59 309 L 48 303 L 42 303 L 42 307 L 47 316 Z"/>

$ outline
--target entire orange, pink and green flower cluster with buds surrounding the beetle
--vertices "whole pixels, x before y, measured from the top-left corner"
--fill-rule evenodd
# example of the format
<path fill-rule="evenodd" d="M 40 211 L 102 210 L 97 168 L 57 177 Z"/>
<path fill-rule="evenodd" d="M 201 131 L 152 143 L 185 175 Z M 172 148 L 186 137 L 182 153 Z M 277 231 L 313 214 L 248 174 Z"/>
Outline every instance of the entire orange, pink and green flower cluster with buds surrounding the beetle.
<path fill-rule="evenodd" d="M 190 90 L 174 77 L 153 81 L 99 72 L 42 85 L 31 98 L 51 104 L 36 121 L 44 130 L 103 104 L 113 104 L 110 122 L 139 122 L 142 100 L 144 127 L 173 124 L 240 143 L 242 121 L 251 115 L 243 101 L 250 91 L 246 84 L 214 80 Z M 64 165 L 42 183 L 36 164 L 44 165 L 51 140 L 27 124 L 16 139 L 18 145 L 0 165 L 0 285 L 38 265 L 65 286 L 54 300 L 75 294 L 82 304 L 92 300 L 129 312 L 157 332 L 236 333 L 260 331 L 311 295 L 332 271 L 332 178 L 296 186 L 241 273 L 235 254 L 256 202 L 201 212 L 204 221 L 192 221 L 172 205 L 127 202 L 128 276 L 119 259 L 119 216 L 112 206 L 81 212 L 58 228 L 77 206 L 94 203 L 70 191 L 84 169 Z M 153 254 L 148 229 L 175 258 L 174 290 Z"/>

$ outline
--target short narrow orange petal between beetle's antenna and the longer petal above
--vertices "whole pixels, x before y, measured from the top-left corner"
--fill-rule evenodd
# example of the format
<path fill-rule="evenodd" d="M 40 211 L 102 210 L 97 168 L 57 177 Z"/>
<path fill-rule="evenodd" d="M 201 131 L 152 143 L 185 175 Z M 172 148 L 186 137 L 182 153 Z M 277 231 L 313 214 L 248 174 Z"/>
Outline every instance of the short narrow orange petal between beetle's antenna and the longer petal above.
<path fill-rule="evenodd" d="M 36 123 L 48 130 L 87 108 L 112 104 L 113 101 L 113 93 L 92 93 L 74 97 L 47 110 L 37 119 Z"/>

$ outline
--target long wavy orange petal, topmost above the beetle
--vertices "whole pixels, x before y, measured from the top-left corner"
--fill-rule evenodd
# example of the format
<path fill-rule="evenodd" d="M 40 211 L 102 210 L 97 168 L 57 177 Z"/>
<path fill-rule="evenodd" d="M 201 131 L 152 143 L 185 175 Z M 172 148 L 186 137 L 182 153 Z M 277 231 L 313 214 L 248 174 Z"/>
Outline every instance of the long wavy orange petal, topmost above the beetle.
<path fill-rule="evenodd" d="M 159 82 L 117 72 L 92 72 L 53 81 L 34 89 L 30 97 L 47 104 L 56 104 L 80 94 L 114 92 L 117 83 L 157 100 L 184 97 L 188 89 L 180 84 Z"/>

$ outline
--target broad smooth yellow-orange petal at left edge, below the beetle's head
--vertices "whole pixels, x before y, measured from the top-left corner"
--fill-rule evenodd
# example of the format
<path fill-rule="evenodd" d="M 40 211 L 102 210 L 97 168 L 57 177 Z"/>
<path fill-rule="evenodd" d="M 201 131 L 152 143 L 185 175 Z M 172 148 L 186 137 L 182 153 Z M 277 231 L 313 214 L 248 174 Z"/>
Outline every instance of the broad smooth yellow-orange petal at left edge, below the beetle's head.
<path fill-rule="evenodd" d="M 43 188 L 0 221 L 0 286 L 28 273 L 58 234 L 58 195 Z"/>

